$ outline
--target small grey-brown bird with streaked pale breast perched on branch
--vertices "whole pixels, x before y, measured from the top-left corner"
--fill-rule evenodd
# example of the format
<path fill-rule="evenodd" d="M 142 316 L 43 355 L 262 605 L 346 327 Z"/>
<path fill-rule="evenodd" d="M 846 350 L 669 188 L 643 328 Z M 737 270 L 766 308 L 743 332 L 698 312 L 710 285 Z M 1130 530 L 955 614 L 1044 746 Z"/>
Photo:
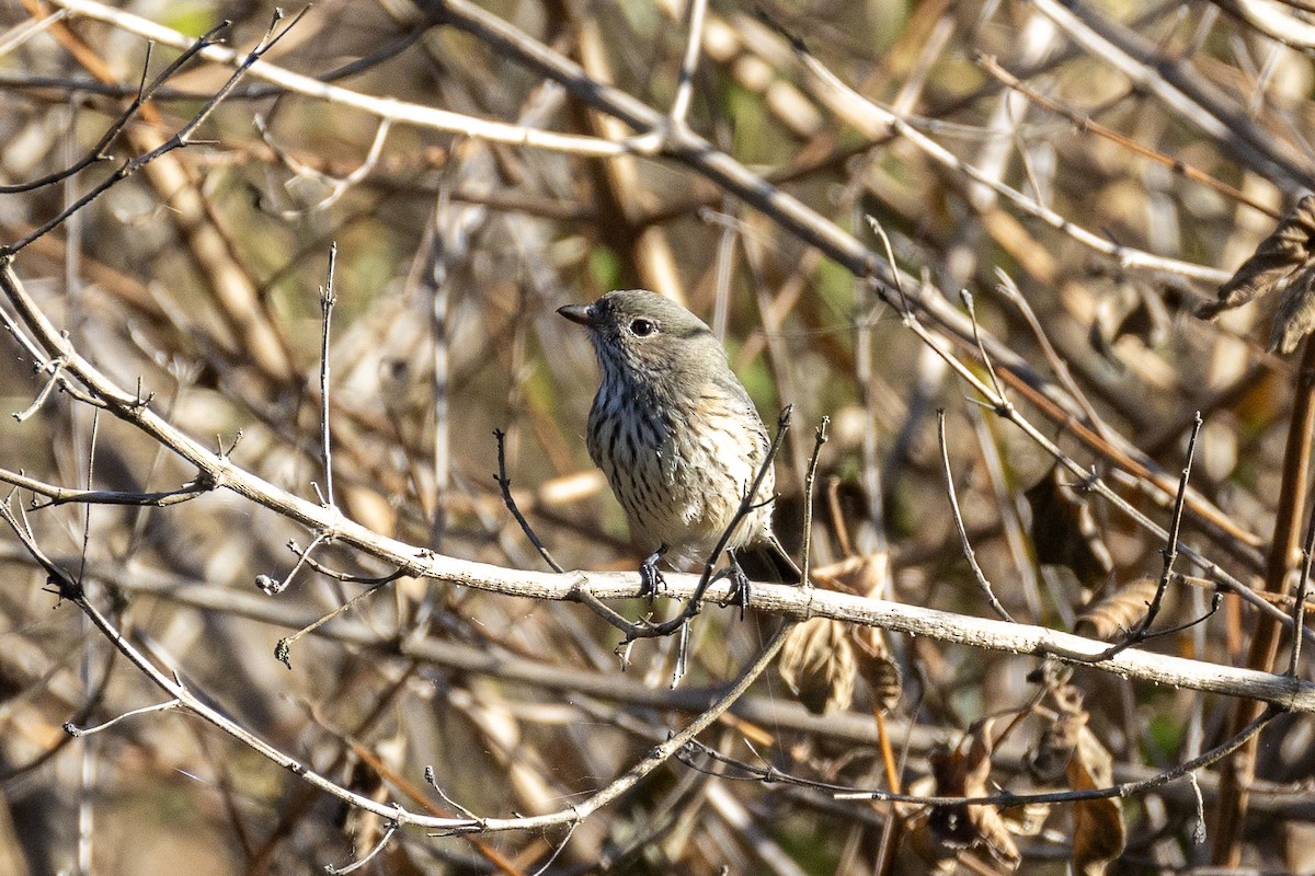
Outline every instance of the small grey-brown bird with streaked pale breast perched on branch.
<path fill-rule="evenodd" d="M 660 561 L 715 562 L 711 552 L 761 473 L 725 545 L 732 598 L 743 609 L 748 578 L 736 550 L 765 546 L 794 563 L 772 532 L 775 471 L 763 470 L 771 441 L 726 349 L 702 319 L 643 289 L 558 313 L 588 330 L 597 355 L 586 444 L 635 540 L 651 550 L 639 567 L 650 599 L 663 583 Z"/>

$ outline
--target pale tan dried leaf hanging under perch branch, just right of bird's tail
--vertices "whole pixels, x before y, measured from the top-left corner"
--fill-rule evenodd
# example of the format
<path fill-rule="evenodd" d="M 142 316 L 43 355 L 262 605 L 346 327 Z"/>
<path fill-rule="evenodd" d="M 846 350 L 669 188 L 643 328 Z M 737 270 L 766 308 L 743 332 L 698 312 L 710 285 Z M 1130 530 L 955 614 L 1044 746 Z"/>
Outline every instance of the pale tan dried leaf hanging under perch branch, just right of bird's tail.
<path fill-rule="evenodd" d="M 849 625 L 813 617 L 792 629 L 781 646 L 777 671 L 809 712 L 847 709 L 857 675 Z"/>

